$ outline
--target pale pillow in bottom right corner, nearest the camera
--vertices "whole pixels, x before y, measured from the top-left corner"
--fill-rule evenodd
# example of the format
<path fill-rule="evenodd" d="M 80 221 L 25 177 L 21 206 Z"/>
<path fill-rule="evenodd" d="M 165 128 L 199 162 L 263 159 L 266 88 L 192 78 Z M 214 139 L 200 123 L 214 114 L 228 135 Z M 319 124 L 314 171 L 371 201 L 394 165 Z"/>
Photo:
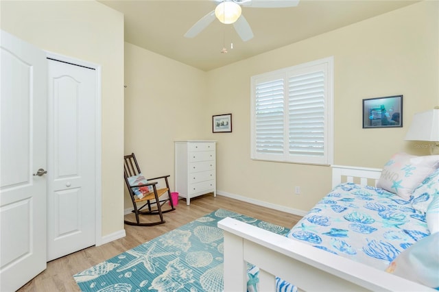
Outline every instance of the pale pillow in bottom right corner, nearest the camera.
<path fill-rule="evenodd" d="M 420 239 L 397 256 L 385 270 L 413 282 L 439 289 L 439 233 Z"/>

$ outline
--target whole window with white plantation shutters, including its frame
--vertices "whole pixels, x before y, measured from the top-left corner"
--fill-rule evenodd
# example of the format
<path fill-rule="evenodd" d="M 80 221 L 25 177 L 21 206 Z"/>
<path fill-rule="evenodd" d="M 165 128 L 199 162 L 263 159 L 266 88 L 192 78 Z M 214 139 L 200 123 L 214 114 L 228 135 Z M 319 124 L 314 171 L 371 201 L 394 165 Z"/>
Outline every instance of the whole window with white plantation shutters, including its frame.
<path fill-rule="evenodd" d="M 333 57 L 263 73 L 252 82 L 252 159 L 330 165 Z"/>

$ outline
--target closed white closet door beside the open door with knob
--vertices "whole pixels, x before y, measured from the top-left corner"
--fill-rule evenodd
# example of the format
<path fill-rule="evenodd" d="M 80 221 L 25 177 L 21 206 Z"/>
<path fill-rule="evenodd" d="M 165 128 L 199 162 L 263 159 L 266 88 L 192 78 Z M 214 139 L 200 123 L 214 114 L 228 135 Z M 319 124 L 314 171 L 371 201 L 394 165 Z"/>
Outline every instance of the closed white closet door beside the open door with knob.
<path fill-rule="evenodd" d="M 96 72 L 49 62 L 47 260 L 95 245 Z"/>

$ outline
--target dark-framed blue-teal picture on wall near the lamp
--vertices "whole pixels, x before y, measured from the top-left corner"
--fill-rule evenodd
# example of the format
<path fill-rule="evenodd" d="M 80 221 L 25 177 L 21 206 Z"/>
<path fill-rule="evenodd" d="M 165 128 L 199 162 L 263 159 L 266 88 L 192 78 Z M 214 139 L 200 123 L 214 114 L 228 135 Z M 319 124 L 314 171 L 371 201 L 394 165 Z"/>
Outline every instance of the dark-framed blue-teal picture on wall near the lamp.
<path fill-rule="evenodd" d="M 402 95 L 363 99 L 363 128 L 402 126 Z"/>

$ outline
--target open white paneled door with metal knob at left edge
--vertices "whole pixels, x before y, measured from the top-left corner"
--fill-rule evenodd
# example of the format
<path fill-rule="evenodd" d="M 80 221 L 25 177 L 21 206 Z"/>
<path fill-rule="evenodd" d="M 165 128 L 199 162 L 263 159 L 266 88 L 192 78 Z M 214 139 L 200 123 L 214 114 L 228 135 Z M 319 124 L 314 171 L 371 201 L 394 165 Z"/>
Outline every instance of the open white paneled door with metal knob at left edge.
<path fill-rule="evenodd" d="M 0 34 L 0 291 L 15 291 L 46 268 L 47 61 Z"/>

